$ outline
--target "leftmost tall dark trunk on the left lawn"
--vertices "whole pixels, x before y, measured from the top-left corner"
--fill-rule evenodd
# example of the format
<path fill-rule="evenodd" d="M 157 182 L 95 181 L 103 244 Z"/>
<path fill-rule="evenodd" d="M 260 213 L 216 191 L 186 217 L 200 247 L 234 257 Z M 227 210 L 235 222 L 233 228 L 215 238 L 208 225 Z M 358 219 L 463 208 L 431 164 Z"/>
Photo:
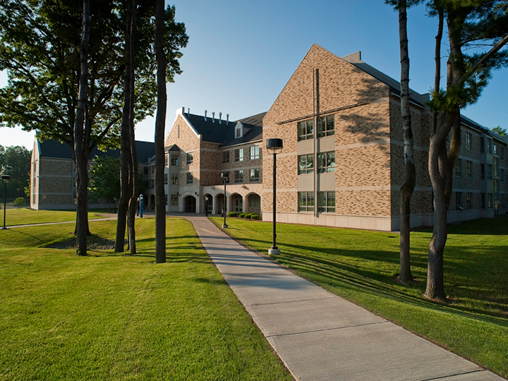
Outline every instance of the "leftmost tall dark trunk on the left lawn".
<path fill-rule="evenodd" d="M 78 175 L 77 192 L 77 250 L 78 255 L 87 255 L 88 234 L 88 171 L 85 140 L 85 109 L 87 104 L 88 82 L 88 40 L 90 38 L 90 1 L 83 0 L 83 32 L 81 35 L 80 49 L 80 85 L 78 109 L 74 121 L 74 152 L 76 172 Z"/>

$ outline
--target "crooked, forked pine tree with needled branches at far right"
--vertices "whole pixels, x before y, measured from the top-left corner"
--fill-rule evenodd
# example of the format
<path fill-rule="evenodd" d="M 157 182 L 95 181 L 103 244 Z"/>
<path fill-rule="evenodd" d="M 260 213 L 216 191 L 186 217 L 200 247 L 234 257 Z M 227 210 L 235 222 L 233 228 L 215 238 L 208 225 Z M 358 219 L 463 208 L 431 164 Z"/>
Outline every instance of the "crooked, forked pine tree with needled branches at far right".
<path fill-rule="evenodd" d="M 507 1 L 433 0 L 430 12 L 438 16 L 435 48 L 435 87 L 428 167 L 434 191 L 434 229 L 429 243 L 425 296 L 444 301 L 443 253 L 447 241 L 447 209 L 452 198 L 453 168 L 460 150 L 460 109 L 473 104 L 487 85 L 492 69 L 507 66 Z M 446 89 L 440 88 L 440 47 L 446 20 L 449 40 Z M 488 52 L 464 50 L 490 45 Z M 449 150 L 446 138 L 451 133 Z"/>

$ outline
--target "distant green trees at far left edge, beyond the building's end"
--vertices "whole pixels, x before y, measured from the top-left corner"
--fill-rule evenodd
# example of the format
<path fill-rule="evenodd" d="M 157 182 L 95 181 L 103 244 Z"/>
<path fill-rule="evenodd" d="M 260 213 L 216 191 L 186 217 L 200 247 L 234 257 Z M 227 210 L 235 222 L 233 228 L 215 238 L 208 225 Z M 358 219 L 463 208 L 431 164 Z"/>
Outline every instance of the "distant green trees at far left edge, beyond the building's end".
<path fill-rule="evenodd" d="M 30 179 L 30 160 L 32 152 L 19 145 L 5 148 L 0 145 L 0 174 L 8 174 L 7 195 L 18 195 L 18 188 L 25 193 L 25 185 Z M 23 195 L 23 193 L 21 193 Z M 27 195 L 29 195 L 28 193 Z M 4 199 L 4 186 L 0 186 L 0 198 Z"/>

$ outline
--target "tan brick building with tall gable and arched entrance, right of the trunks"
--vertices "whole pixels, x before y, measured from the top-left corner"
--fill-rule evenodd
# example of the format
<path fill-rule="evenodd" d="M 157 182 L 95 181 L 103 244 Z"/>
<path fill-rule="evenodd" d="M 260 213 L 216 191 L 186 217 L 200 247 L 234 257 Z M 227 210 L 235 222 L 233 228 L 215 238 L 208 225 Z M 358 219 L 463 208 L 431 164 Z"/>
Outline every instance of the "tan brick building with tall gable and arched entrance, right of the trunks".
<path fill-rule="evenodd" d="M 411 225 L 433 224 L 428 176 L 428 95 L 411 91 L 416 188 Z M 506 212 L 507 140 L 462 118 L 462 145 L 449 221 Z M 314 44 L 267 113 L 229 122 L 176 112 L 167 136 L 169 210 L 222 211 L 220 174 L 229 171 L 227 211 L 272 220 L 270 138 L 277 155 L 277 220 L 361 229 L 399 229 L 404 179 L 400 85 L 361 61 Z M 259 204 L 260 202 L 260 204 Z M 258 206 L 260 205 L 260 206 Z"/>

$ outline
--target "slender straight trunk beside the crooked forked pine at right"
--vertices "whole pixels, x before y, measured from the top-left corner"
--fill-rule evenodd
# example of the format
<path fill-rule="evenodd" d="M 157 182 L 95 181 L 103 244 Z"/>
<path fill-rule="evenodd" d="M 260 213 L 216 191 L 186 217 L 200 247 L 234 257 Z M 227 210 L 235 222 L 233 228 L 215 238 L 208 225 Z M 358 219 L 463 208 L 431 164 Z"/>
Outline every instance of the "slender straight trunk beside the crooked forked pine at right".
<path fill-rule="evenodd" d="M 413 280 L 411 275 L 410 249 L 410 221 L 411 195 L 416 183 L 416 169 L 413 156 L 413 131 L 411 129 L 411 106 L 409 103 L 409 49 L 407 39 L 406 0 L 399 4 L 399 36 L 401 55 L 401 116 L 404 128 L 404 164 L 406 167 L 406 181 L 400 189 L 400 274 L 399 281 L 403 283 Z"/>

